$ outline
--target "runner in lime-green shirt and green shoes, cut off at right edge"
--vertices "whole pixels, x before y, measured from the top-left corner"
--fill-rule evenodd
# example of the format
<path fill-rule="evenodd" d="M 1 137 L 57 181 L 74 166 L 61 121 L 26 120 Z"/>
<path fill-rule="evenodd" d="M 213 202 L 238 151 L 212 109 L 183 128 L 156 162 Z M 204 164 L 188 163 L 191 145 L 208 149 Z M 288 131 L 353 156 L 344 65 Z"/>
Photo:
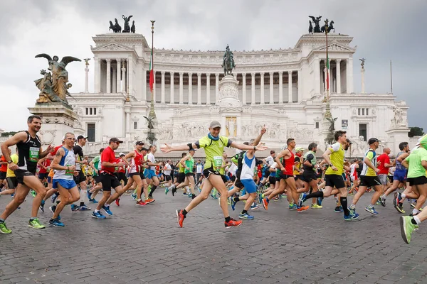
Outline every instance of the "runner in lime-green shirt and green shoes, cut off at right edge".
<path fill-rule="evenodd" d="M 413 192 L 406 194 L 406 197 L 418 198 L 417 207 L 421 207 L 427 197 L 427 135 L 420 138 L 419 144 L 420 146 L 411 151 L 402 162 L 402 165 L 408 168 L 408 182 L 413 188 Z M 405 194 L 402 194 L 402 197 L 405 197 Z M 427 209 L 420 212 L 417 207 L 413 209 L 412 217 L 400 217 L 401 235 L 406 244 L 411 242 L 413 231 L 427 219 Z"/>

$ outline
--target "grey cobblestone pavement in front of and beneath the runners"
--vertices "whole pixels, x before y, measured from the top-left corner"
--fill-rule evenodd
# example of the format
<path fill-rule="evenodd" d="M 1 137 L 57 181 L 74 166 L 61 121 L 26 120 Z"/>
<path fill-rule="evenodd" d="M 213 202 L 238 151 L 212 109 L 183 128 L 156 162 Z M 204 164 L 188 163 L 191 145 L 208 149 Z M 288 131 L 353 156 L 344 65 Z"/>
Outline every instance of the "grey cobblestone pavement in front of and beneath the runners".
<path fill-rule="evenodd" d="M 374 217 L 363 210 L 366 194 L 354 222 L 333 212 L 333 198 L 302 213 L 285 200 L 270 202 L 268 212 L 251 211 L 255 220 L 231 229 L 216 200 L 201 203 L 179 228 L 175 209 L 189 198 L 162 188 L 154 197 L 136 207 L 127 195 L 105 220 L 66 207 L 65 227 L 43 230 L 26 224 L 27 197 L 6 222 L 13 233 L 0 235 L 0 283 L 427 283 L 426 229 L 404 244 L 391 197 Z M 9 200 L 0 198 L 1 210 Z M 43 224 L 50 204 L 39 214 Z M 231 217 L 241 209 L 239 202 Z"/>

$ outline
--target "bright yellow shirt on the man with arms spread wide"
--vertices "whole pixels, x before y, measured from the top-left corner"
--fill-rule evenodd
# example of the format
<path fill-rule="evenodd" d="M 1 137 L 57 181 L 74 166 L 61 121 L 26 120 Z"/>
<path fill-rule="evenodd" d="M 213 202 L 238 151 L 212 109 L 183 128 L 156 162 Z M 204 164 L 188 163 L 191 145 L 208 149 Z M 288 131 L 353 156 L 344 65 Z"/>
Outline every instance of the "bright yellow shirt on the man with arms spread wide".
<path fill-rule="evenodd" d="M 230 147 L 231 141 L 226 136 L 219 136 L 218 140 L 213 140 L 209 136 L 204 136 L 196 141 L 197 148 L 204 148 L 206 153 L 205 169 L 213 168 L 219 170 L 223 163 L 223 149 L 224 147 Z"/>

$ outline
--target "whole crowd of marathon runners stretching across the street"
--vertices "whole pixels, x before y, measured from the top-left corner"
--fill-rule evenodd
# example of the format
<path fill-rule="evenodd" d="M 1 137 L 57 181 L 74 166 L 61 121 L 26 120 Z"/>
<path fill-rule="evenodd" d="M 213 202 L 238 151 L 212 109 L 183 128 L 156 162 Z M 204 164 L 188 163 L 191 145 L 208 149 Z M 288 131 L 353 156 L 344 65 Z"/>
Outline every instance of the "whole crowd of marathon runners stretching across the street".
<path fill-rule="evenodd" d="M 336 131 L 336 142 L 321 156 L 317 155 L 316 143 L 303 149 L 288 138 L 280 153 L 270 151 L 267 158 L 256 158 L 257 151 L 268 149 L 261 142 L 265 127 L 257 137 L 241 144 L 220 136 L 221 124 L 212 121 L 207 136 L 198 141 L 160 148 L 163 153 L 183 152 L 181 160 L 156 160 L 157 147 L 142 141 L 137 141 L 130 153 L 115 153 L 123 143 L 118 138 L 111 138 L 109 145 L 90 160 L 83 153 L 87 137 L 65 133 L 62 145 L 43 150 L 37 136 L 41 117 L 29 116 L 27 123 L 27 131 L 16 133 L 1 145 L 0 196 L 13 197 L 0 215 L 1 234 L 11 233 L 6 219 L 30 192 L 33 202 L 28 225 L 43 229 L 38 212 L 45 212 L 46 202 L 51 203 L 48 209 L 52 212 L 48 224 L 60 227 L 64 226 L 60 212 L 67 205 L 73 212 L 91 211 L 89 206 L 93 206 L 92 217 L 105 219 L 113 214 L 111 204 L 120 206 L 123 195 L 130 195 L 137 206 L 144 207 L 154 202 L 154 191 L 159 187 L 166 195 L 182 190 L 182 195 L 191 198 L 187 207 L 176 210 L 181 227 L 187 214 L 209 197 L 218 200 L 226 228 L 240 226 L 242 219 L 254 219 L 250 210 L 268 210 L 271 200 L 282 198 L 288 200 L 290 210 L 305 212 L 322 209 L 325 197 L 335 197 L 334 212 L 342 213 L 344 221 L 352 221 L 359 217 L 360 197 L 370 191 L 374 191 L 371 200 L 364 204 L 370 214 L 379 214 L 378 207 L 386 207 L 392 193 L 397 212 L 406 214 L 405 199 L 413 207 L 408 216 L 399 219 L 407 244 L 413 231 L 427 219 L 427 209 L 422 208 L 427 197 L 427 135 L 412 149 L 402 141 L 394 160 L 390 148 L 384 148 L 381 155 L 376 153 L 377 138 L 368 139 L 361 159 L 348 160 L 345 151 L 352 141 L 346 131 Z M 16 153 L 12 155 L 13 147 Z M 200 148 L 206 154 L 204 162 L 194 159 Z M 228 157 L 224 148 L 238 151 Z M 229 207 L 234 211 L 240 201 L 245 204 L 236 220 L 230 216 Z"/>

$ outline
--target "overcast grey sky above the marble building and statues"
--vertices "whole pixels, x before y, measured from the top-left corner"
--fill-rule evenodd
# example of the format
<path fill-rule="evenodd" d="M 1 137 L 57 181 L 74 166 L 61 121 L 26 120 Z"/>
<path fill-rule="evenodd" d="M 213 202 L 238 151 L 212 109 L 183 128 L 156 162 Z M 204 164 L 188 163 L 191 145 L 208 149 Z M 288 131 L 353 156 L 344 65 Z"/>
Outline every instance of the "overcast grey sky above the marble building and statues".
<path fill-rule="evenodd" d="M 133 15 L 137 33 L 150 37 L 155 23 L 155 48 L 186 50 L 260 50 L 293 48 L 307 33 L 308 15 L 334 21 L 337 33 L 352 35 L 354 91 L 360 92 L 360 66 L 365 63 L 365 90 L 390 92 L 393 61 L 396 100 L 410 105 L 409 126 L 427 130 L 427 1 L 395 0 L 16 0 L 0 1 L 0 129 L 26 129 L 27 107 L 38 98 L 33 80 L 47 69 L 48 55 L 92 58 L 92 36 L 108 31 L 108 21 Z M 93 62 L 93 61 L 91 61 Z M 219 63 L 218 63 L 219 64 Z M 83 92 L 83 62 L 67 66 L 70 92 Z M 93 65 L 89 90 L 93 92 Z M 381 119 L 381 118 L 379 118 Z"/>

